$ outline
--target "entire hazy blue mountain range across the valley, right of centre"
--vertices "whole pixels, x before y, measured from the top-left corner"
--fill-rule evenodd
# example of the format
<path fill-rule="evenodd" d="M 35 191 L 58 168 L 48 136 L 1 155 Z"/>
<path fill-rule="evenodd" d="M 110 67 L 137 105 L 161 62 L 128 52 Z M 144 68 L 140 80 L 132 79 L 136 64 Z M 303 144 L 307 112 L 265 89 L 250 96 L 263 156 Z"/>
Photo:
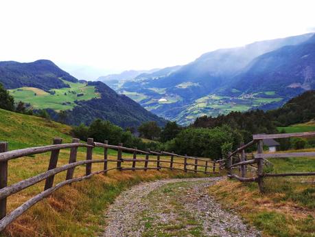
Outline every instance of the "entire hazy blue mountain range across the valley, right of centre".
<path fill-rule="evenodd" d="M 274 109 L 314 89 L 314 38 L 310 33 L 218 49 L 187 65 L 108 85 L 180 124 L 202 115 Z"/>

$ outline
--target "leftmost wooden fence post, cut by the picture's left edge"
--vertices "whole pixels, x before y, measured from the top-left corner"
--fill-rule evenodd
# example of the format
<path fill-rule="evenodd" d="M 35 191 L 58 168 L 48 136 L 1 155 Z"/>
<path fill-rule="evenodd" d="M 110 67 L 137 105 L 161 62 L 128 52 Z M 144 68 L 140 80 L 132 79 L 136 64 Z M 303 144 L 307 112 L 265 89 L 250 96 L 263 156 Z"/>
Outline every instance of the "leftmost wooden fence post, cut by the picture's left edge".
<path fill-rule="evenodd" d="M 9 150 L 8 142 L 0 142 L 0 153 L 5 153 Z M 5 188 L 8 185 L 8 161 L 0 162 L 0 188 Z M 7 214 L 7 198 L 0 200 L 0 219 Z"/>

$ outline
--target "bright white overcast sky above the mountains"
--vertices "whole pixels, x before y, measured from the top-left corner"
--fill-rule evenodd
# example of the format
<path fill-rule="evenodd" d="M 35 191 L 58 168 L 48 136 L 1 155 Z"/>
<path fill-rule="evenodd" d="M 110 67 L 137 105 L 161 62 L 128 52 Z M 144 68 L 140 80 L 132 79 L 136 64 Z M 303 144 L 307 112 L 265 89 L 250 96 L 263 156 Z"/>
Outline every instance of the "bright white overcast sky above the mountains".
<path fill-rule="evenodd" d="M 49 59 L 95 80 L 315 32 L 314 9 L 314 0 L 0 0 L 0 60 Z"/>

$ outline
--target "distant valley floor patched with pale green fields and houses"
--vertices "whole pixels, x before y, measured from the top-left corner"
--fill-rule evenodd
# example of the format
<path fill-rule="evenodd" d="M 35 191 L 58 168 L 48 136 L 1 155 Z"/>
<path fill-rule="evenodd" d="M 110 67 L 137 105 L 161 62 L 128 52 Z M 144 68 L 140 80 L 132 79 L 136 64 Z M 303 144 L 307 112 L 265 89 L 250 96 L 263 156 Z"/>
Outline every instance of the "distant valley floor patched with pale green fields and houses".
<path fill-rule="evenodd" d="M 183 86 L 184 83 L 176 87 Z M 189 82 L 185 83 L 186 85 Z M 186 88 L 186 87 L 185 87 Z M 119 89 L 117 90 L 119 91 Z M 220 95 L 211 93 L 187 102 L 185 98 L 177 94 L 168 94 L 166 88 L 150 88 L 152 93 L 141 93 L 122 90 L 119 93 L 127 95 L 135 100 L 148 111 L 152 111 L 167 120 L 176 121 L 182 125 L 189 125 L 196 120 L 196 117 L 203 115 L 216 117 L 226 115 L 231 111 L 248 111 L 249 109 L 275 109 L 281 106 L 289 98 L 277 95 L 276 91 L 259 91 L 257 93 L 242 93 L 240 95 Z M 239 93 L 238 90 L 233 90 Z M 156 95 L 158 93 L 159 95 Z"/>

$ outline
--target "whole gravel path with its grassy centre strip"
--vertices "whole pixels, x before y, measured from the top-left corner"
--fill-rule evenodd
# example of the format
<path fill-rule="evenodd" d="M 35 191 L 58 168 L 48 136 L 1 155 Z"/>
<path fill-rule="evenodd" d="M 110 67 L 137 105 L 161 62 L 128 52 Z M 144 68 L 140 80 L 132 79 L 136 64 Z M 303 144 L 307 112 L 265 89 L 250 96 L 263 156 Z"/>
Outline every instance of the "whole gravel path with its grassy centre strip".
<path fill-rule="evenodd" d="M 207 187 L 220 178 L 165 179 L 122 192 L 106 212 L 104 237 L 261 236 L 222 210 Z"/>

